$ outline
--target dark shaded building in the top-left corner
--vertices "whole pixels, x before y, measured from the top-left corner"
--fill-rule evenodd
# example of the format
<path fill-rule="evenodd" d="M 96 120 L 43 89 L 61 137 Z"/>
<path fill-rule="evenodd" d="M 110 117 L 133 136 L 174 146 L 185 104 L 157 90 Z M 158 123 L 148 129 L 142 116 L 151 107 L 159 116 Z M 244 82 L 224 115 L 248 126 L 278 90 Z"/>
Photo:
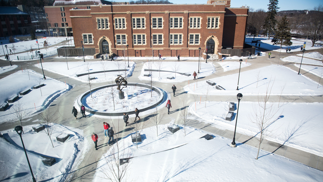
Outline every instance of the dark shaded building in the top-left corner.
<path fill-rule="evenodd" d="M 21 10 L 24 10 L 21 5 L 0 7 L 0 37 L 30 33 L 32 25 L 30 15 Z"/>

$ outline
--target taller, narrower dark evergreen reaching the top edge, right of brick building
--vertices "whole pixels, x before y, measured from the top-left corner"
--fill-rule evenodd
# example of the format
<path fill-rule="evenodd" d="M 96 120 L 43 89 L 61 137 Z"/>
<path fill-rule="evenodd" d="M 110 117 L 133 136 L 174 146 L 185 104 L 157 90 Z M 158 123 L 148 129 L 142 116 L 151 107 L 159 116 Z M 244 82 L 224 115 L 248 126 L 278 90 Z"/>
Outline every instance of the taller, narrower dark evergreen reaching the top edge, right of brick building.
<path fill-rule="evenodd" d="M 277 20 L 275 17 L 277 15 L 277 10 L 279 9 L 278 0 L 269 0 L 267 17 L 264 20 L 263 28 L 265 29 L 264 33 L 268 32 L 269 36 L 272 33 L 275 33 L 275 26 L 277 24 Z"/>

